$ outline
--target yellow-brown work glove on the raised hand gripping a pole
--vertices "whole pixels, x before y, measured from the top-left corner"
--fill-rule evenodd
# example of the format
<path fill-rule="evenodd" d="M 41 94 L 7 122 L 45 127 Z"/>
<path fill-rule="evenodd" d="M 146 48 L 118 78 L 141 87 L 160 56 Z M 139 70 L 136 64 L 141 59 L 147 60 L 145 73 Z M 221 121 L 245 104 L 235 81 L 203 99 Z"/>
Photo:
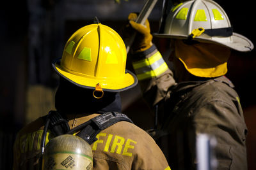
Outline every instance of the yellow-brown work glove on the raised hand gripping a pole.
<path fill-rule="evenodd" d="M 131 46 L 132 52 L 143 52 L 152 46 L 152 34 L 150 34 L 150 25 L 146 20 L 145 25 L 134 22 L 138 15 L 136 13 L 130 13 L 128 20 L 129 24 L 125 28 L 124 39 L 131 38 L 132 33 L 136 31 L 136 37 Z"/>

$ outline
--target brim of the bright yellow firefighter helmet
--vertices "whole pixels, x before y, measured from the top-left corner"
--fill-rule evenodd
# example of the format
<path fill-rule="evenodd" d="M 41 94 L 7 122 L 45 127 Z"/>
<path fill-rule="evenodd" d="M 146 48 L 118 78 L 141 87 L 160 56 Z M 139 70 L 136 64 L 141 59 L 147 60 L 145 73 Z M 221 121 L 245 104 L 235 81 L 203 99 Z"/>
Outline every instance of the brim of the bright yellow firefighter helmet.
<path fill-rule="evenodd" d="M 122 78 L 97 78 L 96 80 L 95 77 L 92 76 L 81 76 L 71 73 L 72 71 L 68 71 L 61 66 L 60 59 L 52 62 L 52 67 L 60 76 L 74 85 L 85 89 L 94 90 L 97 83 L 99 83 L 100 87 L 102 87 L 102 90 L 105 92 L 122 92 L 138 84 L 138 79 L 135 74 L 128 70 L 125 70 L 124 77 Z"/>

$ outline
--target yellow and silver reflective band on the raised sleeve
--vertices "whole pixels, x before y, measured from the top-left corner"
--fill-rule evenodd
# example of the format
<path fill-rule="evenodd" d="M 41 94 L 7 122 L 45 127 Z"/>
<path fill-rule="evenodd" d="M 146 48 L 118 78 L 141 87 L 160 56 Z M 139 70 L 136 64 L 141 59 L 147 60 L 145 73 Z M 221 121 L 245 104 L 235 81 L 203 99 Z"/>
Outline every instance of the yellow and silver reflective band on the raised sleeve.
<path fill-rule="evenodd" d="M 166 62 L 164 62 L 164 59 L 159 52 L 148 59 L 133 62 L 132 66 L 134 67 L 138 80 L 159 76 L 168 69 Z"/>

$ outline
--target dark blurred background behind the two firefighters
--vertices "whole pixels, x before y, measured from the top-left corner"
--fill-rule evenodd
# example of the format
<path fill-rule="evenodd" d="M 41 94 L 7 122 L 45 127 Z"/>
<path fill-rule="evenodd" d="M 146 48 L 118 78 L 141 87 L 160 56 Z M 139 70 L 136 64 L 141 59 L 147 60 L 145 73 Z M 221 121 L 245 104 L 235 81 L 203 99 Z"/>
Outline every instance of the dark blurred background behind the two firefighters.
<path fill-rule="evenodd" d="M 255 9 L 250 1 L 216 1 L 226 11 L 234 32 L 255 43 Z M 3 1 L 0 10 L 0 169 L 12 169 L 12 145 L 21 127 L 54 109 L 58 76 L 51 61 L 61 57 L 69 36 L 97 16 L 102 24 L 120 31 L 132 11 L 140 11 L 145 1 L 129 0 L 22 0 Z M 251 4 L 251 5 L 250 5 Z M 161 1 L 149 21 L 157 32 Z M 154 38 L 164 59 L 168 40 Z M 255 50 L 232 52 L 227 77 L 236 86 L 248 126 L 248 168 L 256 169 Z M 166 60 L 166 62 L 168 62 Z M 127 69 L 132 70 L 127 59 Z M 140 87 L 121 93 L 122 110 L 143 129 L 154 126 L 154 116 L 141 98 Z"/>

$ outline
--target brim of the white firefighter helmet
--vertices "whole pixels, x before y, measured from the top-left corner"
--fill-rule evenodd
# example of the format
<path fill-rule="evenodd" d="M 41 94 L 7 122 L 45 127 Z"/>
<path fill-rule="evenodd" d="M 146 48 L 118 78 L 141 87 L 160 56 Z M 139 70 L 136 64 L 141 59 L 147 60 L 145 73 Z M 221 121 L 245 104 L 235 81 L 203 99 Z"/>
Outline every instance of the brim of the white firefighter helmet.
<path fill-rule="evenodd" d="M 188 39 L 188 35 L 185 35 L 185 34 L 182 35 L 182 34 L 154 33 L 153 36 L 156 36 L 158 38 Z M 224 46 L 227 46 L 228 48 L 232 48 L 233 50 L 237 50 L 239 52 L 250 52 L 254 48 L 252 41 L 242 36 L 241 34 L 237 34 L 233 32 L 233 35 L 231 36 L 231 38 L 232 38 L 232 42 L 218 41 L 216 39 L 211 39 L 211 36 L 208 36 L 207 34 L 202 34 L 198 37 L 193 38 L 193 40 L 204 42 L 204 43 L 216 43 L 218 45 L 224 45 Z"/>

